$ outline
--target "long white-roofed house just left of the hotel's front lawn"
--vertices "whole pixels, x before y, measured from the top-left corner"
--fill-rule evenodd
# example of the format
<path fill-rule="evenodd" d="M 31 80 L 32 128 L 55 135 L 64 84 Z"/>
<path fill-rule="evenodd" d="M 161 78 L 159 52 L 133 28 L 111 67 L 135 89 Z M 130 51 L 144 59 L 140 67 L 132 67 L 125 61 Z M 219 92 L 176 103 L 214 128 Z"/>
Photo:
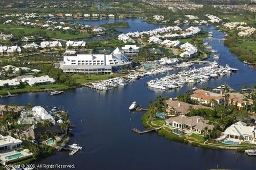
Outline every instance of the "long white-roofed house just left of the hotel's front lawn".
<path fill-rule="evenodd" d="M 53 78 L 50 78 L 48 75 L 43 75 L 41 77 L 34 78 L 23 78 L 21 79 L 21 81 L 27 82 L 29 86 L 55 83 L 55 80 Z"/>

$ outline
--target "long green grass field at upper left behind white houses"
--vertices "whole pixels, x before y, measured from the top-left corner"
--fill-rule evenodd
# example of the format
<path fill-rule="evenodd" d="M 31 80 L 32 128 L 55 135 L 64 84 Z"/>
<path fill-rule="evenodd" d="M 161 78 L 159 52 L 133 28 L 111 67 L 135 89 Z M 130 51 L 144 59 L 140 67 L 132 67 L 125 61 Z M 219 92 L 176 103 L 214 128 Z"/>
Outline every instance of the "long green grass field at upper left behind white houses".
<path fill-rule="evenodd" d="M 88 34 L 72 35 L 69 33 L 62 33 L 60 31 L 50 31 L 50 30 L 45 30 L 45 29 L 41 29 L 41 28 L 29 28 L 29 27 L 20 26 L 20 25 L 0 24 L 0 28 L 4 29 L 4 30 L 11 31 L 12 33 L 18 32 L 18 30 L 23 30 L 26 35 L 28 35 L 28 33 L 38 32 L 39 30 L 41 30 L 41 31 L 45 31 L 47 33 L 47 35 L 51 38 L 64 39 L 64 40 L 92 37 L 91 35 L 88 35 Z M 53 32 L 56 33 L 56 35 L 54 37 L 52 36 Z"/>

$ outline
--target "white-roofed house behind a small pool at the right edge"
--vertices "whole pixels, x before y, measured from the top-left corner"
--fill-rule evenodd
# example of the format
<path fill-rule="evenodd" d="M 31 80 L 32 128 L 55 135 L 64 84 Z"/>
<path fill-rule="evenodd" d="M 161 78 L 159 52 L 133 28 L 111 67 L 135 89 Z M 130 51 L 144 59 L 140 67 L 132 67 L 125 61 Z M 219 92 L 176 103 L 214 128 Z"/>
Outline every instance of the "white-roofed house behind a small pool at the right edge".
<path fill-rule="evenodd" d="M 254 141 L 255 140 L 255 127 L 254 126 L 246 126 L 247 124 L 244 122 L 236 122 L 229 126 L 224 134 L 228 139 L 238 139 L 238 140 L 246 140 L 246 141 Z"/>

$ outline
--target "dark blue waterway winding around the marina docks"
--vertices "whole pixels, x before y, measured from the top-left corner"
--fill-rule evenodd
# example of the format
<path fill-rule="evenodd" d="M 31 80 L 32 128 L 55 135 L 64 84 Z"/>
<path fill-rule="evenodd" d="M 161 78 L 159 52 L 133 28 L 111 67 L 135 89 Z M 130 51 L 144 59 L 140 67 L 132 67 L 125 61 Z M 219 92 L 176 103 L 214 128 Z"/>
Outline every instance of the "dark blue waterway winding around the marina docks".
<path fill-rule="evenodd" d="M 214 27 L 203 28 L 212 31 L 214 38 L 223 37 L 223 33 L 213 30 Z M 221 65 L 229 64 L 239 71 L 196 86 L 217 87 L 227 82 L 231 87 L 240 89 L 242 83 L 256 83 L 255 70 L 231 54 L 228 48 L 223 46 L 223 41 L 209 42 L 219 51 L 218 62 Z M 0 101 L 3 104 L 62 105 L 69 112 L 71 123 L 76 125 L 75 136 L 71 138 L 70 143 L 78 143 L 83 147 L 82 152 L 72 157 L 68 152 L 58 152 L 38 160 L 38 164 L 74 164 L 76 169 L 210 169 L 216 168 L 217 165 L 219 168 L 255 169 L 255 157 L 247 157 L 242 153 L 236 153 L 236 156 L 234 150 L 203 149 L 169 141 L 155 132 L 138 135 L 131 131 L 132 128 L 143 129 L 140 121 L 143 112 L 128 111 L 132 101 L 135 100 L 147 108 L 149 101 L 158 95 L 175 97 L 195 86 L 191 84 L 171 91 L 146 87 L 146 81 L 163 76 L 146 77 L 109 92 L 78 88 L 65 91 L 59 96 L 38 92 L 3 98 Z"/>

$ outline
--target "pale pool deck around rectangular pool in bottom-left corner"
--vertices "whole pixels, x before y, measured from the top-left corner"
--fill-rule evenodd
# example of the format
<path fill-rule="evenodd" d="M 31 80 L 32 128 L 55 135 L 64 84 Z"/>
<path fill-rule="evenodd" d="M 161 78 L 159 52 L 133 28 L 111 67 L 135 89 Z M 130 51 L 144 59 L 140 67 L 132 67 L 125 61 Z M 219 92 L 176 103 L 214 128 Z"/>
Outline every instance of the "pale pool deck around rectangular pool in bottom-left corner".
<path fill-rule="evenodd" d="M 23 156 L 22 157 L 19 157 L 19 158 L 12 158 L 12 159 L 7 159 L 6 157 L 9 157 L 9 156 L 12 156 L 12 155 L 15 155 L 15 154 L 22 154 Z M 23 149 L 21 151 L 5 151 L 5 152 L 2 152 L 0 154 L 0 160 L 4 163 L 7 163 L 7 162 L 12 162 L 13 160 L 15 159 L 20 159 L 20 158 L 25 158 L 25 157 L 31 157 L 33 154 L 28 150 L 28 149 Z"/>

